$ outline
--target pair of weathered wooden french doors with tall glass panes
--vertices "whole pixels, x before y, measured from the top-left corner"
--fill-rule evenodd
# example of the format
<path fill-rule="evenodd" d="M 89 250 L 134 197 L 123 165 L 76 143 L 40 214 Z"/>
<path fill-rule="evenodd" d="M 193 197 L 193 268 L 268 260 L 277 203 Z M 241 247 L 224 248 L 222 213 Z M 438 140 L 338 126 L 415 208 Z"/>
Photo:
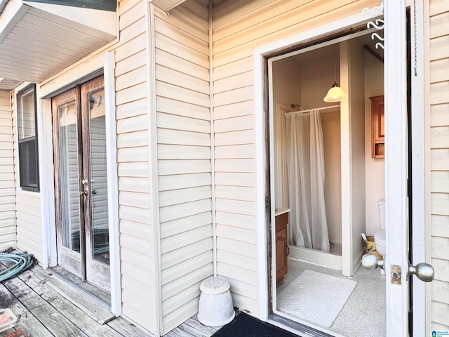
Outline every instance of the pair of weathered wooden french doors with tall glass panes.
<path fill-rule="evenodd" d="M 110 291 L 102 76 L 52 99 L 58 265 Z"/>

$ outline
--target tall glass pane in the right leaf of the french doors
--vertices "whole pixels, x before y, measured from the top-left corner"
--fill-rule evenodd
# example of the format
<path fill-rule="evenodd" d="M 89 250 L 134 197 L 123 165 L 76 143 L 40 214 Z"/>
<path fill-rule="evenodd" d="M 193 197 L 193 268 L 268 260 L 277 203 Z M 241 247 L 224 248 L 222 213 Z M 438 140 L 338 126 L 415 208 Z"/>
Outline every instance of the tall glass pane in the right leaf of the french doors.
<path fill-rule="evenodd" d="M 105 91 L 89 94 L 92 258 L 109 265 Z"/>

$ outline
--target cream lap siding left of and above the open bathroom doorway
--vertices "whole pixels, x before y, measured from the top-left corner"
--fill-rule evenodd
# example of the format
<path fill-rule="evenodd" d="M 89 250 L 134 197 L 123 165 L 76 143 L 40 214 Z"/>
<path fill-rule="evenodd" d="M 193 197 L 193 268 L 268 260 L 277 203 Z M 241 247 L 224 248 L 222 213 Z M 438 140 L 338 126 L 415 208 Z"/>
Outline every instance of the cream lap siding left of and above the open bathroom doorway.
<path fill-rule="evenodd" d="M 377 1 L 378 2 L 378 1 Z M 234 305 L 259 315 L 253 48 L 377 6 L 365 1 L 214 1 L 217 272 Z M 326 33 L 323 31 L 323 33 Z M 262 163 L 259 163 L 260 165 Z"/>

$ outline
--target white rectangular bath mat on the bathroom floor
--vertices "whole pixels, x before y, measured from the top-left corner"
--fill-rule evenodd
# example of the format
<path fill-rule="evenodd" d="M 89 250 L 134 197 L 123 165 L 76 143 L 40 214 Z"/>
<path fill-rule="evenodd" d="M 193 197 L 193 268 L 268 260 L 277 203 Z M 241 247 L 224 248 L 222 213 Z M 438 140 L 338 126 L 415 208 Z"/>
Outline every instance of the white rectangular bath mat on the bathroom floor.
<path fill-rule="evenodd" d="M 330 328 L 357 282 L 304 270 L 277 297 L 277 308 L 288 315 Z"/>

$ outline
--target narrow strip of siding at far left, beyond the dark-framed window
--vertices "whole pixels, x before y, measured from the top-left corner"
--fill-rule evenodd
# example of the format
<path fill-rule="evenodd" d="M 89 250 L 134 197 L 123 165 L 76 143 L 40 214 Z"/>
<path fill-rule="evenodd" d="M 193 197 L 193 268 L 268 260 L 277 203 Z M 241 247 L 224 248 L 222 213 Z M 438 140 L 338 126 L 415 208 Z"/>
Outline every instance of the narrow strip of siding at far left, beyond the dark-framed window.
<path fill-rule="evenodd" d="M 0 91 L 0 250 L 15 248 L 15 190 L 11 98 Z"/>

